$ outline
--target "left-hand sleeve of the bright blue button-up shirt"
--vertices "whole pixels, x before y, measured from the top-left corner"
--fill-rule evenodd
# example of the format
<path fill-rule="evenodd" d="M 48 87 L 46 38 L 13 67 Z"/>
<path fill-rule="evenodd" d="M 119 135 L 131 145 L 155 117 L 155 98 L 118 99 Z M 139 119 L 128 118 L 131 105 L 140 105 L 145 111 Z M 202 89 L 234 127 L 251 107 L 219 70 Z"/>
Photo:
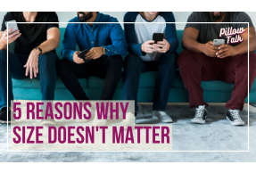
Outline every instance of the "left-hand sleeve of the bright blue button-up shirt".
<path fill-rule="evenodd" d="M 62 41 L 62 58 L 73 61 L 73 54 L 76 52 L 77 38 L 75 32 L 75 24 L 69 23 L 66 30 L 64 39 Z"/>

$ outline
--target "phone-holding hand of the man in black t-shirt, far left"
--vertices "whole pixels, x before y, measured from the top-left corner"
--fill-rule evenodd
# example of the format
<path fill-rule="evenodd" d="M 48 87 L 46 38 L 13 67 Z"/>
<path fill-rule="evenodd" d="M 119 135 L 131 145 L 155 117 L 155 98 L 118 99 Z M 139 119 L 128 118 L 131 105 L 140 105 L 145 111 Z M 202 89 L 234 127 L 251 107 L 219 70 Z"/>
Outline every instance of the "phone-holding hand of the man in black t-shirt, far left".
<path fill-rule="evenodd" d="M 8 38 L 8 44 L 11 44 L 13 41 L 15 41 L 18 37 L 21 36 L 20 30 L 16 30 L 15 32 L 13 32 L 11 35 L 9 35 L 9 33 L 12 31 L 13 29 L 6 29 L 4 30 L 4 33 L 2 35 L 2 37 L 0 38 L 0 45 L 1 47 L 6 48 L 7 47 L 7 38 Z M 8 37 L 7 37 L 7 33 L 8 33 Z"/>

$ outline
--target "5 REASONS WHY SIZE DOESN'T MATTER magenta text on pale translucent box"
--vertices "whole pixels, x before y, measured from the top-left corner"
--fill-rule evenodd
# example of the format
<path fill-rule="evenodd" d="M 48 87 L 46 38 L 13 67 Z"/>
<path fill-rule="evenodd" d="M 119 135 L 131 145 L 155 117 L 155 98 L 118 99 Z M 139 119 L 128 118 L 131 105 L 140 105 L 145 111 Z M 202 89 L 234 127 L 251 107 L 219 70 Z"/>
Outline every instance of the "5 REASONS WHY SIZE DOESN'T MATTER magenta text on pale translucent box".
<path fill-rule="evenodd" d="M 171 125 L 135 124 L 134 105 L 12 102 L 11 151 L 171 151 Z"/>

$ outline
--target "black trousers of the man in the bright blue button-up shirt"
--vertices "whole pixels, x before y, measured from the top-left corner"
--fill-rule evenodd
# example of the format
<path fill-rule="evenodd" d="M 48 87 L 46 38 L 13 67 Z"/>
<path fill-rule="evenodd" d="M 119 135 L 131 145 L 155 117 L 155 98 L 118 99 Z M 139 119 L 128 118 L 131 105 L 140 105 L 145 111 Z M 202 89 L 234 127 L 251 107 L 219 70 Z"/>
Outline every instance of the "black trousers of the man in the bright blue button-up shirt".
<path fill-rule="evenodd" d="M 122 67 L 122 57 L 114 55 L 82 64 L 62 59 L 57 64 L 57 72 L 76 100 L 89 100 L 78 78 L 105 78 L 101 100 L 112 100 L 120 81 Z"/>

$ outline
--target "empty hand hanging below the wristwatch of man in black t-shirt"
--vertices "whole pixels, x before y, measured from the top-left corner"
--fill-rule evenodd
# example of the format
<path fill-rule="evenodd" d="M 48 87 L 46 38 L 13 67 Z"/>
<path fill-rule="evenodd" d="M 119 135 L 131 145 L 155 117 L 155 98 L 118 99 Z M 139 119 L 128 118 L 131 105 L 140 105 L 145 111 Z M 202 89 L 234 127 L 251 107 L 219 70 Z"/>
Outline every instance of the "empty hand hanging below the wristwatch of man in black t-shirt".
<path fill-rule="evenodd" d="M 26 76 L 30 74 L 30 78 L 33 78 L 33 73 L 34 77 L 37 78 L 37 73 L 38 73 L 38 57 L 39 57 L 39 51 L 36 49 L 33 49 L 31 53 L 29 54 L 29 59 L 26 65 L 24 65 L 26 69 Z"/>

